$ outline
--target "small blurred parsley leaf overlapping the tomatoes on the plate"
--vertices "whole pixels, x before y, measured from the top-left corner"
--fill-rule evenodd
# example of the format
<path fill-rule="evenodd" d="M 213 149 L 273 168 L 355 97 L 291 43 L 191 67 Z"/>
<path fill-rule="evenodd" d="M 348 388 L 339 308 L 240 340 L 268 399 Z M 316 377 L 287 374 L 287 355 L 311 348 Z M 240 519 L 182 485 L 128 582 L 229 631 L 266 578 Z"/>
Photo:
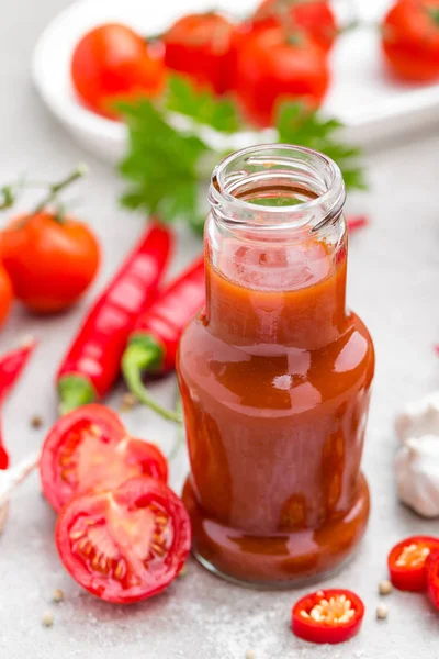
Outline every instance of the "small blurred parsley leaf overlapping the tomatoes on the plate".
<path fill-rule="evenodd" d="M 240 127 L 236 105 L 230 99 L 217 98 L 206 89 L 196 89 L 189 79 L 180 76 L 170 77 L 165 105 L 171 112 L 190 116 L 221 133 L 236 133 Z"/>

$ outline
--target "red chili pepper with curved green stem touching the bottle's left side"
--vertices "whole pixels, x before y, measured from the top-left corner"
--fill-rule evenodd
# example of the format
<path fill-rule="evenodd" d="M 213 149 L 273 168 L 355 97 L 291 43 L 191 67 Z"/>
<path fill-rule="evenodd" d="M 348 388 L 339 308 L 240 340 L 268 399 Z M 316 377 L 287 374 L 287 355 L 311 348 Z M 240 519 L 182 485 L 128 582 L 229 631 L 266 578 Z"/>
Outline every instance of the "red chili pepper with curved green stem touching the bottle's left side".
<path fill-rule="evenodd" d="M 142 373 L 175 368 L 181 334 L 203 306 L 204 299 L 204 258 L 199 257 L 137 319 L 122 359 L 122 371 L 132 392 L 145 405 L 171 421 L 179 422 L 180 415 L 164 410 L 149 398 Z"/>

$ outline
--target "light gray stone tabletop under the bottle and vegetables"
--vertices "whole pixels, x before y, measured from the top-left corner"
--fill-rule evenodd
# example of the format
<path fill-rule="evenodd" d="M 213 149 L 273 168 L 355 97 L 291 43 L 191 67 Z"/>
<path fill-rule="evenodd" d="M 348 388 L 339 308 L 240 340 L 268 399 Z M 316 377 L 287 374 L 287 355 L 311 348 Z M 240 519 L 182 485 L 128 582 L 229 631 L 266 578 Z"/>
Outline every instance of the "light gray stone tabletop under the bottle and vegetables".
<path fill-rule="evenodd" d="M 99 233 L 104 264 L 92 298 L 108 280 L 142 231 L 142 219 L 117 210 L 117 181 L 104 165 L 86 156 L 52 120 L 30 82 L 35 40 L 67 0 L 2 0 L 0 3 L 0 181 L 29 170 L 41 177 L 65 174 L 87 159 L 91 176 L 81 191 L 77 213 Z M 350 200 L 367 210 L 370 230 L 351 241 L 349 300 L 368 323 L 375 340 L 378 369 L 364 455 L 372 491 L 372 516 L 354 562 L 327 585 L 357 591 L 367 604 L 364 627 L 351 643 L 313 647 L 289 630 L 290 608 L 302 594 L 254 592 L 221 582 L 193 561 L 185 578 L 159 597 L 119 607 L 83 594 L 65 573 L 53 543 L 55 516 L 32 477 L 14 498 L 8 527 L 0 539 L 1 659 L 435 659 L 439 657 L 439 616 L 421 595 L 393 593 L 385 600 L 390 615 L 376 622 L 378 582 L 385 577 L 389 548 L 402 537 L 439 530 L 401 507 L 395 498 L 392 460 L 396 440 L 395 411 L 407 399 L 439 386 L 439 133 L 413 137 L 369 157 L 371 191 Z M 199 245 L 181 236 L 178 265 Z M 0 334 L 0 350 L 32 333 L 41 347 L 4 412 L 4 434 L 13 460 L 35 449 L 56 417 L 53 378 L 87 300 L 52 320 L 27 315 L 16 305 Z M 156 386 L 170 403 L 173 379 Z M 112 403 L 117 405 L 122 387 Z M 41 431 L 30 417 L 44 416 Z M 125 415 L 133 433 L 169 448 L 173 429 L 144 410 Z M 173 468 L 178 488 L 187 470 L 184 458 Z M 66 601 L 55 605 L 55 588 Z M 44 628 L 43 613 L 55 624 Z"/>

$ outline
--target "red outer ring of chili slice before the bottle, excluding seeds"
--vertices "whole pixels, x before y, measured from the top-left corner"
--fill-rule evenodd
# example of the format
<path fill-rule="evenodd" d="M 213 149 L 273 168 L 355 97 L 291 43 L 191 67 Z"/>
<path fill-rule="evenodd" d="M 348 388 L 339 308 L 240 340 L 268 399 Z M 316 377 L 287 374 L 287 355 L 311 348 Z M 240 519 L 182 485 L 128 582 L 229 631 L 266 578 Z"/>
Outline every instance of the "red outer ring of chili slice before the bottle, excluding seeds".
<path fill-rule="evenodd" d="M 346 623 L 317 622 L 313 618 L 304 618 L 302 612 L 309 613 L 312 608 L 318 604 L 322 599 L 329 600 L 345 595 L 351 603 L 354 610 L 353 617 Z M 345 643 L 356 636 L 361 627 L 364 617 L 364 604 L 356 593 L 345 589 L 320 590 L 315 593 L 305 595 L 296 602 L 292 610 L 292 630 L 295 636 L 308 640 L 309 643 Z"/>

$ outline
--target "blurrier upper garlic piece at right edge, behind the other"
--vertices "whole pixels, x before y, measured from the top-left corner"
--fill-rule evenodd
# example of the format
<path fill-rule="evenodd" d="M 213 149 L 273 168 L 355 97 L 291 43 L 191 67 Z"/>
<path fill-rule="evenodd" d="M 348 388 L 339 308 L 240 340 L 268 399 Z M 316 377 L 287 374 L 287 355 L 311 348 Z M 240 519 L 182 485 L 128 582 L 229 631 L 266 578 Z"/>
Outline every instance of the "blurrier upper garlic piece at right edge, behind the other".
<path fill-rule="evenodd" d="M 397 415 L 395 429 L 401 442 L 424 435 L 437 435 L 439 440 L 439 391 L 408 403 Z"/>

